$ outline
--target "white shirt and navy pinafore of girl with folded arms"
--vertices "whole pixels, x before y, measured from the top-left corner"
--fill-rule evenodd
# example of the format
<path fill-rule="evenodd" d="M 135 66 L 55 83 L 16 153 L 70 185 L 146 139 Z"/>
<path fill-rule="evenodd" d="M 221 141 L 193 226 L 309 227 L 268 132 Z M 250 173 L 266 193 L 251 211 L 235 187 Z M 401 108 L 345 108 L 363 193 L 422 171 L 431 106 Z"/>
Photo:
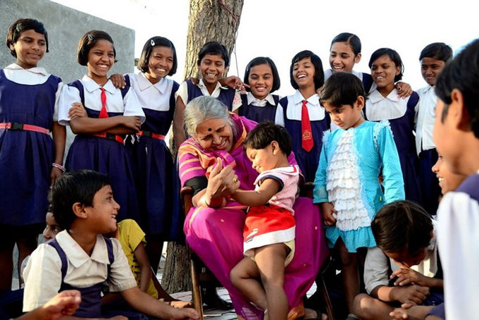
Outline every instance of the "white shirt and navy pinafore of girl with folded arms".
<path fill-rule="evenodd" d="M 63 87 L 59 100 L 59 123 L 68 125 L 68 121 L 70 121 L 68 110 L 73 102 L 82 102 L 89 118 L 99 118 L 101 99 L 96 95 L 97 90 L 92 90 L 92 87 L 98 87 L 98 85 L 91 83 L 93 81 L 85 75 L 82 80 L 76 80 Z M 107 92 L 106 108 L 108 116 L 139 116 L 144 118 L 137 96 L 133 90 L 130 90 L 129 86 L 118 90 L 113 87 L 111 80 L 108 80 L 104 88 Z M 108 94 L 108 92 L 112 93 Z M 123 101 L 118 101 L 119 99 L 123 99 Z M 110 105 L 108 101 L 110 101 Z M 111 111 L 109 106 L 115 106 L 116 110 Z M 118 221 L 127 218 L 140 221 L 130 156 L 123 140 L 118 140 L 118 137 L 120 136 L 77 135 L 68 150 L 66 168 L 68 171 L 89 169 L 104 173 L 110 179 L 113 197 L 120 204 Z"/>

